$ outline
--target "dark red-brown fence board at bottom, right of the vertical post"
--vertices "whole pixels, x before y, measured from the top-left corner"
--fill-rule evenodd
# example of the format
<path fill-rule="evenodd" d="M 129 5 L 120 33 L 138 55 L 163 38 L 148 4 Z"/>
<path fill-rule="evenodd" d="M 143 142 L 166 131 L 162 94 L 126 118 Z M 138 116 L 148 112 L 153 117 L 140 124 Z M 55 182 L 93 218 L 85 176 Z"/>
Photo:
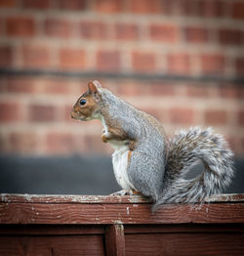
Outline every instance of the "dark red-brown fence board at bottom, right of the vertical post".
<path fill-rule="evenodd" d="M 125 235 L 126 256 L 244 255 L 243 234 Z"/>

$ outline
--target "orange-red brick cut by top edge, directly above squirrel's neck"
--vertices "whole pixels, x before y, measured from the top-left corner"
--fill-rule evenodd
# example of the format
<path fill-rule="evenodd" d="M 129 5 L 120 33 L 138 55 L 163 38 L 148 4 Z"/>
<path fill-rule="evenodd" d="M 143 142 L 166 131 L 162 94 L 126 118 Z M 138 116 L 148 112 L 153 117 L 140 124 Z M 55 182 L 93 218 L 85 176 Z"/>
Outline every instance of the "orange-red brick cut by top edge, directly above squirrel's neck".
<path fill-rule="evenodd" d="M 118 13 L 123 10 L 123 0 L 97 0 L 95 8 L 101 13 Z"/>

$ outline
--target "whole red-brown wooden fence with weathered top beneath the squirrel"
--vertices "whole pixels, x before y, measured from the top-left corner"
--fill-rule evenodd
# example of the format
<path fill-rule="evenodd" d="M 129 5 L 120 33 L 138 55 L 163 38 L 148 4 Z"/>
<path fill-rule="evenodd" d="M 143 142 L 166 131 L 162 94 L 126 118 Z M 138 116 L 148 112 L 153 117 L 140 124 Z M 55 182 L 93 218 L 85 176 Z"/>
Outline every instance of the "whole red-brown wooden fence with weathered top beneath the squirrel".
<path fill-rule="evenodd" d="M 0 255 L 244 255 L 244 194 L 150 207 L 138 195 L 0 194 Z"/>

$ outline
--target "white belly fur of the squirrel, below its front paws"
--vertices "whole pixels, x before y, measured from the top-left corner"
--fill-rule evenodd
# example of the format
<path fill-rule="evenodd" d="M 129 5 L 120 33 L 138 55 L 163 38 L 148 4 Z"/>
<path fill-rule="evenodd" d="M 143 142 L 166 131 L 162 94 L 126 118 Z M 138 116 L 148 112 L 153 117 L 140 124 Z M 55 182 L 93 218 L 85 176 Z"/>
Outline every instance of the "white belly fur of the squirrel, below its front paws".
<path fill-rule="evenodd" d="M 117 183 L 123 190 L 135 190 L 128 178 L 128 153 L 130 150 L 126 145 L 127 142 L 109 141 L 109 144 L 114 149 L 112 164 Z"/>

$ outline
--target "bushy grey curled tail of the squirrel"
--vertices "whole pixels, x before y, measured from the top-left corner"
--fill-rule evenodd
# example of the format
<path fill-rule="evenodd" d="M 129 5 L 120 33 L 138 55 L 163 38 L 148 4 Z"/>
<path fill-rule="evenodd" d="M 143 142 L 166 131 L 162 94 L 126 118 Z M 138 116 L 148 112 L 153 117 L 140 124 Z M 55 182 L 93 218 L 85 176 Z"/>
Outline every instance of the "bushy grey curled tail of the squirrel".
<path fill-rule="evenodd" d="M 223 137 L 211 128 L 193 127 L 181 131 L 169 142 L 164 191 L 153 210 L 163 203 L 196 202 L 206 196 L 220 193 L 233 177 L 233 153 Z M 185 174 L 198 160 L 203 172 L 194 179 L 185 180 Z"/>

